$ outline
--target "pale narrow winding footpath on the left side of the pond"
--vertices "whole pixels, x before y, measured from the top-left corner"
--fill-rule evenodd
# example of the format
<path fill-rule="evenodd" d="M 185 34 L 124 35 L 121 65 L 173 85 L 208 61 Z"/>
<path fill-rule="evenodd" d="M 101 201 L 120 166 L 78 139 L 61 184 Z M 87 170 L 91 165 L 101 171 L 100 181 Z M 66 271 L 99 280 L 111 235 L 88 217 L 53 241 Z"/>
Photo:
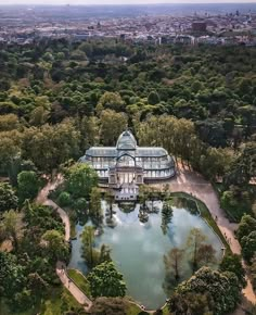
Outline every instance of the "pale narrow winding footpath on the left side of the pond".
<path fill-rule="evenodd" d="M 54 190 L 61 182 L 62 182 L 61 176 L 57 176 L 57 178 L 54 181 L 48 182 L 48 185 L 39 192 L 37 197 L 37 203 L 50 205 L 56 210 L 65 226 L 65 240 L 68 241 L 71 238 L 69 217 L 63 209 L 57 206 L 57 204 L 55 204 L 52 200 L 48 199 L 49 191 Z M 77 300 L 77 302 L 84 305 L 86 311 L 89 311 L 92 305 L 92 302 L 67 276 L 65 263 L 63 262 L 56 263 L 56 274 L 62 284 L 64 285 L 64 287 L 72 293 L 72 295 Z"/>

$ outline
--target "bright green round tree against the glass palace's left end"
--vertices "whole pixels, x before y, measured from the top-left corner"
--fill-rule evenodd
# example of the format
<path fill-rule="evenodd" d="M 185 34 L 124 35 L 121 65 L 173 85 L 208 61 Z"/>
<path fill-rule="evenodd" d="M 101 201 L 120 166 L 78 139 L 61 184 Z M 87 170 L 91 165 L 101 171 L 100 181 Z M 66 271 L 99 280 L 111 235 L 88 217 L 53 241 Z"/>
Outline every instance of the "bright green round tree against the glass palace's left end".
<path fill-rule="evenodd" d="M 86 163 L 77 163 L 66 171 L 66 189 L 73 198 L 89 198 L 98 185 L 97 172 Z"/>

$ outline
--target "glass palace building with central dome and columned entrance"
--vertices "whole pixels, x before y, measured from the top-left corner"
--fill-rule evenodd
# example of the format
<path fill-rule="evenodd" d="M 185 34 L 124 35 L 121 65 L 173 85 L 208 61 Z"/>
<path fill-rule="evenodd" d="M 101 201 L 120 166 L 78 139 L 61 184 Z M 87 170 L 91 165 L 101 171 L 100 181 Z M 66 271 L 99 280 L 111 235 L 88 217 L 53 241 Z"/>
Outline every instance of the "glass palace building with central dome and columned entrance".
<path fill-rule="evenodd" d="M 166 180 L 176 173 L 174 159 L 165 149 L 138 147 L 129 130 L 119 136 L 116 147 L 92 147 L 79 162 L 89 163 L 100 181 L 110 186 Z"/>

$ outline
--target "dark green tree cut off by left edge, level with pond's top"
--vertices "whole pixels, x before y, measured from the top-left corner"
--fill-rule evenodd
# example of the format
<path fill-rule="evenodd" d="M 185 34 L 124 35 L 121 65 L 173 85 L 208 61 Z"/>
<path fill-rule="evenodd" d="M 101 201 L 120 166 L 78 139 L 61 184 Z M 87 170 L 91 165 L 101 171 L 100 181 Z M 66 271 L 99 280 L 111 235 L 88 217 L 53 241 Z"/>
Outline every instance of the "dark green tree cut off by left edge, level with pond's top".
<path fill-rule="evenodd" d="M 17 197 L 9 184 L 0 182 L 0 212 L 16 209 Z"/>

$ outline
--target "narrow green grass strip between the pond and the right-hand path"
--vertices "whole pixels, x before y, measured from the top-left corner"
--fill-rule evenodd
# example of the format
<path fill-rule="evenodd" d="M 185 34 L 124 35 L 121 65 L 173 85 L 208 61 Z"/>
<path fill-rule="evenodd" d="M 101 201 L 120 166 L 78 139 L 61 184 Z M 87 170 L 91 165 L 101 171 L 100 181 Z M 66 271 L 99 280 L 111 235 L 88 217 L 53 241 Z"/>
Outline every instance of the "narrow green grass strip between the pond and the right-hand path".
<path fill-rule="evenodd" d="M 227 249 L 226 252 L 230 252 L 229 243 L 227 242 L 226 238 L 221 234 L 216 220 L 213 218 L 208 207 L 206 206 L 206 204 L 203 201 L 201 201 L 200 199 L 192 197 L 185 192 L 174 192 L 174 193 L 170 193 L 170 196 L 182 197 L 182 198 L 187 198 L 190 200 L 194 200 L 197 203 L 197 206 L 199 206 L 199 210 L 201 212 L 202 217 L 208 223 L 208 225 L 213 228 L 213 230 L 218 235 L 221 242 L 223 243 L 223 245 Z"/>

